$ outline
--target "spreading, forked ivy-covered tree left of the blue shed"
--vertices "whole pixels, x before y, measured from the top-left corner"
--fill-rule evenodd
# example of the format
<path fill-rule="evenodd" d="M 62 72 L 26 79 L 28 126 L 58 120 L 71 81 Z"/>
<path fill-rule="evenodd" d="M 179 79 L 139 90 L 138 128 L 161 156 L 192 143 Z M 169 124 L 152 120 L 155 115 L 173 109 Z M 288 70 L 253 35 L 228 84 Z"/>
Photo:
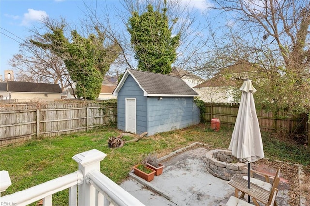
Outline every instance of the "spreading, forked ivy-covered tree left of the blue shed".
<path fill-rule="evenodd" d="M 32 44 L 51 52 L 63 59 L 71 80 L 76 83 L 78 97 L 96 99 L 101 90 L 103 76 L 110 64 L 117 58 L 116 45 L 104 48 L 104 35 L 96 28 L 98 37 L 90 34 L 84 38 L 76 30 L 71 31 L 71 41 L 64 35 L 65 24 L 49 24 L 52 33 L 43 35 L 45 42 L 30 40 Z M 112 52 L 114 51 L 114 52 Z"/>

